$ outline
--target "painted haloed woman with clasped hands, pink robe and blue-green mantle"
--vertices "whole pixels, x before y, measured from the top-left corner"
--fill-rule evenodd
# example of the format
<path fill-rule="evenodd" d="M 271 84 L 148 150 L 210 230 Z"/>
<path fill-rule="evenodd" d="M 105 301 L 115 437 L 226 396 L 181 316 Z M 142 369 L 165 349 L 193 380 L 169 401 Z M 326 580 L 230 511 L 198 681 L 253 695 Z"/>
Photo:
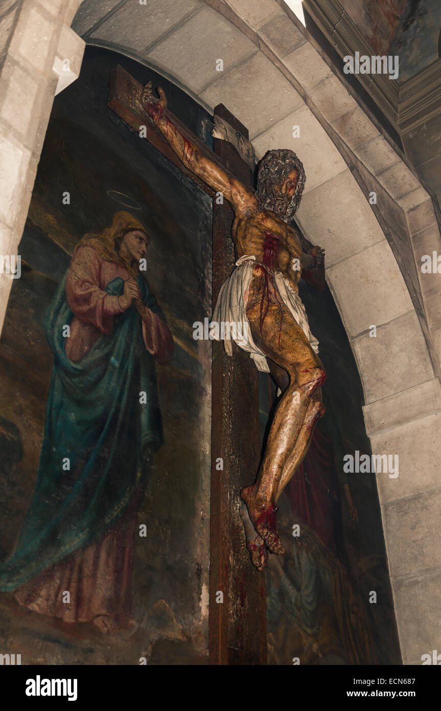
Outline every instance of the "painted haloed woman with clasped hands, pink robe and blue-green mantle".
<path fill-rule="evenodd" d="M 155 360 L 173 338 L 140 271 L 147 247 L 120 211 L 75 249 L 43 321 L 54 364 L 36 490 L 0 565 L 22 606 L 104 633 L 130 626 L 136 513 L 163 444 Z"/>

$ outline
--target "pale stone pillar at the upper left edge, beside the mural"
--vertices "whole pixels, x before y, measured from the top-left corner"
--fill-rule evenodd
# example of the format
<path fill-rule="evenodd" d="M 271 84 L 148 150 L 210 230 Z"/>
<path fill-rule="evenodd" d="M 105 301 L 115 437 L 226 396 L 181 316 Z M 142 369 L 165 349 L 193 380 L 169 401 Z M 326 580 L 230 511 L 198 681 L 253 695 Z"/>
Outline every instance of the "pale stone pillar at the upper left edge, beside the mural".
<path fill-rule="evenodd" d="M 79 5 L 6 0 L 0 6 L 0 257 L 17 253 L 53 97 L 80 73 L 85 43 L 70 28 Z M 0 332 L 13 280 L 4 264 Z"/>

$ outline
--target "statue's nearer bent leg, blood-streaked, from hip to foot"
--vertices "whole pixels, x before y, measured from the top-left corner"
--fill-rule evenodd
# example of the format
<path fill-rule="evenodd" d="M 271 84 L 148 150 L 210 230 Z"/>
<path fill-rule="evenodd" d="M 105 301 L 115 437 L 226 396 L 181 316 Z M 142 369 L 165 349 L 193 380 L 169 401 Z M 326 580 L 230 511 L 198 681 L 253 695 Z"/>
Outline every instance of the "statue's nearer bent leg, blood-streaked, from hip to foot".
<path fill-rule="evenodd" d="M 285 486 L 322 415 L 317 389 L 325 380 L 325 370 L 271 281 L 265 270 L 254 267 L 246 316 L 256 346 L 288 373 L 289 383 L 278 402 L 256 483 L 244 488 L 241 498 L 258 535 L 271 552 L 280 554 L 276 498 L 283 474 Z"/>

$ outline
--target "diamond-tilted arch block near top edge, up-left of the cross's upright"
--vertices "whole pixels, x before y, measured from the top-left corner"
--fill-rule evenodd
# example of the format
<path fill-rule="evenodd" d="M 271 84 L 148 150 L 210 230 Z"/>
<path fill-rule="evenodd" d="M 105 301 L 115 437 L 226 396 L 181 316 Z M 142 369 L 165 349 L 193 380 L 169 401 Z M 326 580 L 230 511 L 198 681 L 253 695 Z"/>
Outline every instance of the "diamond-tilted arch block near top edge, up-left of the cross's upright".
<path fill-rule="evenodd" d="M 173 34 L 148 52 L 148 60 L 165 69 L 195 93 L 217 84 L 246 57 L 256 45 L 232 23 L 210 7 L 190 17 Z M 217 60 L 223 70 L 217 71 Z"/>

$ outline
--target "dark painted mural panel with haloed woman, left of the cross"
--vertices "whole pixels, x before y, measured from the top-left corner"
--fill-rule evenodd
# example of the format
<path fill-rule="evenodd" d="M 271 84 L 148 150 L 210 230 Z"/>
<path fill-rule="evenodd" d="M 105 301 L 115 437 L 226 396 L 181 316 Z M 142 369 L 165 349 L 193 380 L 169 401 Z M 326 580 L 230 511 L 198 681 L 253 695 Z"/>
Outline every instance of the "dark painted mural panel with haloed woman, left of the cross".
<path fill-rule="evenodd" d="M 107 108 L 118 63 L 143 80 L 87 48 L 55 100 L 0 342 L 0 637 L 26 664 L 207 661 L 212 205 Z"/>

